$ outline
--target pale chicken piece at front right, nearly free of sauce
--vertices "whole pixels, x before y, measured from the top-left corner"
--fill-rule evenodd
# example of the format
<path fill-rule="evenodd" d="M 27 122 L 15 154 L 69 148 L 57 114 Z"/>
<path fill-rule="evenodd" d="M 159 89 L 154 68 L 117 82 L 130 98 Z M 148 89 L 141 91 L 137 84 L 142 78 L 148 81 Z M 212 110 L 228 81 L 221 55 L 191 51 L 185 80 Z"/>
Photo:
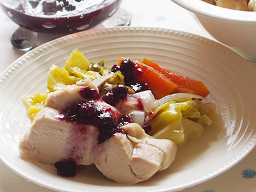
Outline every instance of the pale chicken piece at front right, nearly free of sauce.
<path fill-rule="evenodd" d="M 172 141 L 156 140 L 138 124 L 127 124 L 122 129 L 126 135 L 117 133 L 102 143 L 104 149 L 95 159 L 97 168 L 109 179 L 135 184 L 173 162 L 177 147 Z"/>

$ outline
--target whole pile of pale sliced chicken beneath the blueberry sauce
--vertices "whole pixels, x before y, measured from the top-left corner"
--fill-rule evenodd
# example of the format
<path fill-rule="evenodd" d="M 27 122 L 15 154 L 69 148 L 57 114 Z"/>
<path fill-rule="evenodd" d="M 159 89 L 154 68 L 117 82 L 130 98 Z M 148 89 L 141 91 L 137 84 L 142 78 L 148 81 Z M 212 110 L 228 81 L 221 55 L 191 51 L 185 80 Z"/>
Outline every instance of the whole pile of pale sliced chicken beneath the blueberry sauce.
<path fill-rule="evenodd" d="M 175 158 L 176 145 L 170 140 L 152 138 L 138 124 L 124 125 L 120 127 L 122 131 L 98 143 L 100 129 L 96 125 L 75 124 L 61 119 L 61 110 L 70 104 L 86 101 L 79 94 L 84 84 L 86 82 L 66 86 L 48 95 L 44 108 L 20 141 L 21 157 L 49 164 L 68 159 L 76 164 L 95 164 L 106 177 L 123 184 L 147 180 L 170 166 Z M 114 121 L 118 121 L 120 113 L 116 108 L 100 99 L 90 102 L 113 111 Z"/>

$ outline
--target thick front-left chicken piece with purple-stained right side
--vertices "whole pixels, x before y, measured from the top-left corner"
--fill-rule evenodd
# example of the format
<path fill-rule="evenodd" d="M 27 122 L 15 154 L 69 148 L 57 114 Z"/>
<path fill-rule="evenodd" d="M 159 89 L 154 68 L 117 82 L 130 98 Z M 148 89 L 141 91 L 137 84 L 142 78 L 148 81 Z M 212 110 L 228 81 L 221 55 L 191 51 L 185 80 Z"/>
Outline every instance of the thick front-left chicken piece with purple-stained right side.
<path fill-rule="evenodd" d="M 99 130 L 92 125 L 74 125 L 58 120 L 60 111 L 43 108 L 31 129 L 20 141 L 20 156 L 43 163 L 74 159 L 77 164 L 92 164 Z"/>

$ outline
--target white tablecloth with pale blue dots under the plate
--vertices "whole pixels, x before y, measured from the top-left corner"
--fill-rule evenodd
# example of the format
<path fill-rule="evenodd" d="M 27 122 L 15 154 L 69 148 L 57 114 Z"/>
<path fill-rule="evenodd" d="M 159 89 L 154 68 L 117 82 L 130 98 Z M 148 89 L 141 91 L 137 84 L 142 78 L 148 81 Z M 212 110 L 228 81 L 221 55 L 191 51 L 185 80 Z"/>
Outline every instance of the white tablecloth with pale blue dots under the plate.
<path fill-rule="evenodd" d="M 124 0 L 125 8 L 132 17 L 131 26 L 167 28 L 195 33 L 196 35 L 213 38 L 196 22 L 193 15 L 180 8 L 170 0 Z M 97 28 L 100 28 L 98 26 Z M 0 10 L 0 73 L 25 52 L 12 47 L 10 36 L 17 29 L 14 24 Z M 60 35 L 38 34 L 37 45 L 58 38 Z M 255 63 L 250 63 L 255 67 Z M 256 69 L 256 67 L 255 67 Z M 200 172 L 200 170 L 198 170 Z M 28 182 L 13 173 L 0 162 L 0 192 L 50 192 L 51 189 L 42 188 Z M 202 184 L 182 190 L 182 192 L 253 192 L 256 191 L 256 148 L 242 161 L 225 173 L 214 177 Z M 109 191 L 110 192 L 110 191 Z"/>

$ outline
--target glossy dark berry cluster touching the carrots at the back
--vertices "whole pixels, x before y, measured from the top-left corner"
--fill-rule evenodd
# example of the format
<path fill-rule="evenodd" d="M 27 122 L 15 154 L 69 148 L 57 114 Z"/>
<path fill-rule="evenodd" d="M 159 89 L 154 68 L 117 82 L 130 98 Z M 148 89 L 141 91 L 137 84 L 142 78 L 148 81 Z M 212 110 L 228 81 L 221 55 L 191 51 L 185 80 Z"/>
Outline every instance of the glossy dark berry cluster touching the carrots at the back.
<path fill-rule="evenodd" d="M 113 65 L 111 72 L 120 71 L 124 76 L 124 83 L 127 86 L 131 86 L 134 92 L 142 92 L 145 90 L 150 90 L 149 86 L 145 82 L 140 82 L 141 68 L 138 68 L 138 65 L 134 63 L 131 59 L 124 59 L 120 66 Z"/>

